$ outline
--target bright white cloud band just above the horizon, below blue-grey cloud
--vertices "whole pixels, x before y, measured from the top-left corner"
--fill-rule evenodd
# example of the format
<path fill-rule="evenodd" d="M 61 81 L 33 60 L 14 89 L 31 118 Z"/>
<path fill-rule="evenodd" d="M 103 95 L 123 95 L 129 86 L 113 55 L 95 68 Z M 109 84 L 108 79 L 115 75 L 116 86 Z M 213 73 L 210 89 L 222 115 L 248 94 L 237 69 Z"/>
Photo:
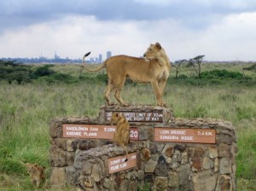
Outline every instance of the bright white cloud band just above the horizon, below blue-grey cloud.
<path fill-rule="evenodd" d="M 141 56 L 149 43 L 160 42 L 171 61 L 206 55 L 206 60 L 256 60 L 256 13 L 230 14 L 205 30 L 191 30 L 181 22 L 165 20 L 97 20 L 93 16 L 67 16 L 7 31 L 0 37 L 0 52 L 11 57 L 81 58 L 108 50 L 113 55 Z M 11 50 L 11 51 L 10 51 Z"/>

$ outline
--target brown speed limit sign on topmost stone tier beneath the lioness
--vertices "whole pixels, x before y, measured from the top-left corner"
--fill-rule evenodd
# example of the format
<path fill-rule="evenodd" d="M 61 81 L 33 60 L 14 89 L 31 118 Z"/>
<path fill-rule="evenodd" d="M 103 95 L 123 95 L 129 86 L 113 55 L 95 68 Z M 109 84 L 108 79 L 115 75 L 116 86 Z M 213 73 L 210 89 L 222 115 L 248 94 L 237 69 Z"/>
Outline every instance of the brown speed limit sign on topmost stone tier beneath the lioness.
<path fill-rule="evenodd" d="M 125 119 L 130 122 L 163 122 L 162 112 L 123 112 Z M 111 120 L 112 112 L 105 113 L 105 119 L 107 121 Z"/>

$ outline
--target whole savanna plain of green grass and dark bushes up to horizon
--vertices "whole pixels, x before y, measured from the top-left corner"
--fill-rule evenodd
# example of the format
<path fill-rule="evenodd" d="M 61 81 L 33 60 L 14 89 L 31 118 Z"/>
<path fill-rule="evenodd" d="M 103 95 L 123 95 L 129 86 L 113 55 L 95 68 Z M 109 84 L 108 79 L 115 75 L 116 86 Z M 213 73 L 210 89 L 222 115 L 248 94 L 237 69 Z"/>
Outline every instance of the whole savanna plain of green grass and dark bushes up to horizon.
<path fill-rule="evenodd" d="M 214 72 L 211 77 L 196 78 L 193 68 L 187 67 L 181 67 L 176 78 L 172 69 L 164 94 L 176 118 L 224 119 L 234 124 L 239 191 L 256 190 L 256 72 L 242 70 L 250 66 L 252 63 L 201 66 L 202 72 L 224 71 L 237 78 Z M 47 186 L 49 123 L 61 116 L 98 116 L 99 107 L 105 104 L 106 72 L 88 73 L 80 65 L 68 64 L 0 67 L 0 190 L 72 190 L 68 185 Z M 122 96 L 130 104 L 156 103 L 150 84 L 127 82 Z M 26 163 L 46 167 L 45 185 L 32 186 Z"/>

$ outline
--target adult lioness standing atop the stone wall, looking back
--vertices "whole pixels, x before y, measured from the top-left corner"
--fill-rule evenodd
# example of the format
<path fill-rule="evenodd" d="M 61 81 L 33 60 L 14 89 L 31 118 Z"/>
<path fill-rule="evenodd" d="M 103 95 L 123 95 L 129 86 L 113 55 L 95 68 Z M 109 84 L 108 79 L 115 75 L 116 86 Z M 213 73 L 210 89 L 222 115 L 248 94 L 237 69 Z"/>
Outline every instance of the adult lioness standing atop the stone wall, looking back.
<path fill-rule="evenodd" d="M 90 53 L 84 55 L 83 64 L 84 58 L 88 55 Z M 90 69 L 84 64 L 84 68 L 90 72 L 96 72 L 103 67 L 107 67 L 108 87 L 104 96 L 108 105 L 112 105 L 110 93 L 115 90 L 114 97 L 117 101 L 123 106 L 128 106 L 120 96 L 126 78 L 131 78 L 132 81 L 138 83 L 150 83 L 154 90 L 157 105 L 161 107 L 166 105 L 162 96 L 171 70 L 170 60 L 166 55 L 166 51 L 161 47 L 160 43 L 150 44 L 143 56 L 144 58 L 128 55 L 112 56 L 96 69 Z"/>

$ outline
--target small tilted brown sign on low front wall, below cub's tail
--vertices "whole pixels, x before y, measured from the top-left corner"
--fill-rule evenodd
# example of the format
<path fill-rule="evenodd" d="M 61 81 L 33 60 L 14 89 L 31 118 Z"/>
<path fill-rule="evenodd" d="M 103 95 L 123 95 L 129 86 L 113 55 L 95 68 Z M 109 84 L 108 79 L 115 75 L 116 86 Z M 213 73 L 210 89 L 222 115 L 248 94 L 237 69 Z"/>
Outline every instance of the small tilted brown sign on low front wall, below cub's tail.
<path fill-rule="evenodd" d="M 129 153 L 128 160 L 125 162 L 126 154 L 108 159 L 109 174 L 118 171 L 125 171 L 137 166 L 137 153 Z"/>

